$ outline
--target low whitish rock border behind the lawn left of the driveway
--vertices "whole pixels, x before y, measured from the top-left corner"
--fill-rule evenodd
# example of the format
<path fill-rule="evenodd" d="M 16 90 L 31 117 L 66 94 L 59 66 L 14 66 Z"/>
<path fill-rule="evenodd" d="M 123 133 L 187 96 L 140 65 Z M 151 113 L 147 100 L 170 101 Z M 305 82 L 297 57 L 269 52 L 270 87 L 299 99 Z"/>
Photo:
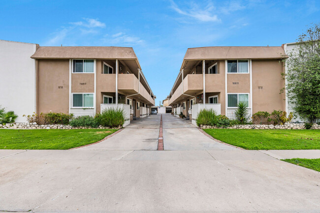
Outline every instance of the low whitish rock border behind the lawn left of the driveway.
<path fill-rule="evenodd" d="M 6 123 L 5 125 L 0 124 L 0 128 L 5 129 L 105 129 L 107 127 L 98 126 L 97 128 L 80 126 L 80 127 L 72 127 L 70 125 L 62 125 L 62 124 L 42 124 L 38 125 L 36 122 L 33 123 Z M 108 129 L 121 129 L 122 126 L 118 127 L 110 127 Z"/>

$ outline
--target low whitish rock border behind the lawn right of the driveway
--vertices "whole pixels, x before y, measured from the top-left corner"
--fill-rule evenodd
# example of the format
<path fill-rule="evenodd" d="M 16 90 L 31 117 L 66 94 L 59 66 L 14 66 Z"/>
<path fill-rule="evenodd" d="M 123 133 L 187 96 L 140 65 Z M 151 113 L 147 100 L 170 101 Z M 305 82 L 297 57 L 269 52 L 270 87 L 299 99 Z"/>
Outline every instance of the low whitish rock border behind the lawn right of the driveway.
<path fill-rule="evenodd" d="M 284 125 L 263 125 L 263 124 L 248 124 L 234 125 L 227 127 L 217 127 L 210 125 L 200 125 L 200 129 L 306 129 L 304 123 L 288 123 Z M 310 129 L 320 129 L 320 125 L 314 123 Z"/>

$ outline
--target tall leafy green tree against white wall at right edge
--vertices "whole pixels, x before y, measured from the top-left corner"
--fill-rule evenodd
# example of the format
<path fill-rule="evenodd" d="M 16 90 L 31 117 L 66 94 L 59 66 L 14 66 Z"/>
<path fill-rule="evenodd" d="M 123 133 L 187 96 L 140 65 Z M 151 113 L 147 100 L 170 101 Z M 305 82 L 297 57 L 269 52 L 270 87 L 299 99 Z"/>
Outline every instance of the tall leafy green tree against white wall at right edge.
<path fill-rule="evenodd" d="M 314 123 L 320 118 L 320 24 L 300 35 L 288 56 L 289 103 L 301 118 Z"/>

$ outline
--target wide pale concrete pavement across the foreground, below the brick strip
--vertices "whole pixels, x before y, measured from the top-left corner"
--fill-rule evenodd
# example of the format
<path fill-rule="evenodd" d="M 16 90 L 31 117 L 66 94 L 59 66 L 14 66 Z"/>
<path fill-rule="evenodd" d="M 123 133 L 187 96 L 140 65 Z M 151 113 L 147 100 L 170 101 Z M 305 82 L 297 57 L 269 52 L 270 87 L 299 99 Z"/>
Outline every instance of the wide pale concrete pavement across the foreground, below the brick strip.
<path fill-rule="evenodd" d="M 259 151 L 1 150 L 0 211 L 320 212 L 320 173 Z"/>

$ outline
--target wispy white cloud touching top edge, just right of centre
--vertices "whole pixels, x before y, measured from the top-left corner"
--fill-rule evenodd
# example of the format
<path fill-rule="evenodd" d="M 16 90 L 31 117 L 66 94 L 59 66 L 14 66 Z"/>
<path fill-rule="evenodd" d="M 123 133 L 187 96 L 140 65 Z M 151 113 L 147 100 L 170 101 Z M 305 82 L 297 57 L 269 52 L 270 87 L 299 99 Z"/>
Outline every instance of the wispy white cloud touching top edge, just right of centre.
<path fill-rule="evenodd" d="M 199 5 L 196 3 L 192 3 L 191 8 L 185 10 L 179 8 L 179 6 L 173 0 L 170 0 L 170 2 L 171 8 L 181 15 L 189 16 L 201 22 L 221 21 L 218 16 L 214 14 L 214 6 L 210 2 L 204 7 L 204 9 L 199 7 Z"/>

